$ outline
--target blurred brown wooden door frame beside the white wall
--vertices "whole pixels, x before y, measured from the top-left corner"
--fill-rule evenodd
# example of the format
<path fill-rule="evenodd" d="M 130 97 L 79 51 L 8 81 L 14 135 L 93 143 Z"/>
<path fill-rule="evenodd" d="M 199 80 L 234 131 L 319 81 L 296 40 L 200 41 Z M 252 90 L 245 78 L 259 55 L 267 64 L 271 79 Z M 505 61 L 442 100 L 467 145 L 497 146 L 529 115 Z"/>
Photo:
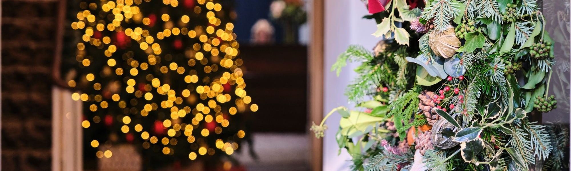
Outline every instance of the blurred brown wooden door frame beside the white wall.
<path fill-rule="evenodd" d="M 309 55 L 307 62 L 308 72 L 308 131 L 313 121 L 323 119 L 323 82 L 324 82 L 324 14 L 325 1 L 313 0 L 310 10 L 309 22 L 311 26 L 309 42 Z M 311 170 L 323 169 L 323 140 L 316 139 L 313 133 L 308 133 L 311 148 Z"/>

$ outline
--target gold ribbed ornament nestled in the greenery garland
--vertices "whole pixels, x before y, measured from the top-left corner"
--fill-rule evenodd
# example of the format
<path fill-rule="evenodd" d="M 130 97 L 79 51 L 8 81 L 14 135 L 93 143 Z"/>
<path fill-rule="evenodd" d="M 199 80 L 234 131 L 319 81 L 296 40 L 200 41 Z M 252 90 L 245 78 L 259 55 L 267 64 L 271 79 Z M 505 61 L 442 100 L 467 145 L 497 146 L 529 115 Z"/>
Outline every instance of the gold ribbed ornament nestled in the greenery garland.
<path fill-rule="evenodd" d="M 460 40 L 454 34 L 454 28 L 449 27 L 443 32 L 433 31 L 428 35 L 428 46 L 434 54 L 448 59 L 460 48 Z"/>

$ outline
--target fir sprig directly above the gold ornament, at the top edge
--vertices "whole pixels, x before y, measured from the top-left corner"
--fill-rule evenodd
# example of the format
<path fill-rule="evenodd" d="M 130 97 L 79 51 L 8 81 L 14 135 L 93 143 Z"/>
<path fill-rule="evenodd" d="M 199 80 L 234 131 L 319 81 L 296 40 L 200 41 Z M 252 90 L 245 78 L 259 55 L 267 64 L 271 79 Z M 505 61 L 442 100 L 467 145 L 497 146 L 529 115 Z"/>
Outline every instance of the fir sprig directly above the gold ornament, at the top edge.
<path fill-rule="evenodd" d="M 449 23 L 460 13 L 460 5 L 452 0 L 439 0 L 433 2 L 432 6 L 424 9 L 421 18 L 433 23 L 437 31 L 444 31 Z"/>

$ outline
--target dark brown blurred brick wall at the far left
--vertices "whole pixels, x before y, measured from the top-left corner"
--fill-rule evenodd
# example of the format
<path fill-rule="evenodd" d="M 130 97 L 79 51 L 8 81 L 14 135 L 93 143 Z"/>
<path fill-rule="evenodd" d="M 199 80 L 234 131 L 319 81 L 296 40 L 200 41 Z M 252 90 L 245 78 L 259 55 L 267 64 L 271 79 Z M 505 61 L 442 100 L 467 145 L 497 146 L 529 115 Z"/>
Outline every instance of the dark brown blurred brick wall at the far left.
<path fill-rule="evenodd" d="M 51 168 L 57 11 L 55 0 L 2 0 L 2 170 Z"/>

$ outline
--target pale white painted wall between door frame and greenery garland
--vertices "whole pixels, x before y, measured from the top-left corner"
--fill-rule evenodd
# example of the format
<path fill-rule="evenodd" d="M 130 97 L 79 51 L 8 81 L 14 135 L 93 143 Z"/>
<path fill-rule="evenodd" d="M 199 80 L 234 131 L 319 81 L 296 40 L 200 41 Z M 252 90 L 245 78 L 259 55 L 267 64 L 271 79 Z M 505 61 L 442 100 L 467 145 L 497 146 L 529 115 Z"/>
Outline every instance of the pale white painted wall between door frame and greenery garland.
<path fill-rule="evenodd" d="M 324 46 L 324 113 L 341 105 L 352 107 L 344 96 L 345 87 L 356 74 L 353 68 L 356 63 L 349 64 L 339 77 L 331 72 L 331 66 L 337 56 L 345 51 L 350 44 L 360 44 L 372 49 L 380 40 L 371 34 L 376 30 L 373 20 L 362 19 L 368 11 L 359 0 L 328 0 L 325 1 L 325 46 Z M 339 146 L 335 141 L 335 133 L 339 128 L 341 116 L 332 115 L 327 120 L 328 130 L 323 139 L 323 170 L 348 170 L 351 157 L 345 149 L 337 156 Z"/>

